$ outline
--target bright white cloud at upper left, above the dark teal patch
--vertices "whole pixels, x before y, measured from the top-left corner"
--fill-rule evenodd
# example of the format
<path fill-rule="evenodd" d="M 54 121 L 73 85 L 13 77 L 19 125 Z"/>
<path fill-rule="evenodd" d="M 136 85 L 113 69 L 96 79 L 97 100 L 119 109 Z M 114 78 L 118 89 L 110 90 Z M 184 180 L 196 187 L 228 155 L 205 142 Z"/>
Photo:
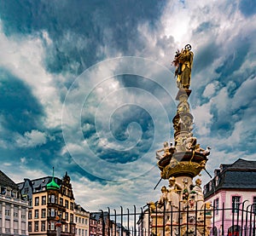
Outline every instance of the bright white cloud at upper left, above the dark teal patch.
<path fill-rule="evenodd" d="M 43 32 L 44 38 L 50 43 L 49 35 Z M 20 78 L 32 89 L 44 106 L 45 125 L 54 128 L 61 124 L 60 93 L 55 82 L 61 76 L 49 74 L 44 68 L 44 46 L 38 36 L 6 37 L 0 26 L 0 66 L 3 66 L 16 77 Z"/>

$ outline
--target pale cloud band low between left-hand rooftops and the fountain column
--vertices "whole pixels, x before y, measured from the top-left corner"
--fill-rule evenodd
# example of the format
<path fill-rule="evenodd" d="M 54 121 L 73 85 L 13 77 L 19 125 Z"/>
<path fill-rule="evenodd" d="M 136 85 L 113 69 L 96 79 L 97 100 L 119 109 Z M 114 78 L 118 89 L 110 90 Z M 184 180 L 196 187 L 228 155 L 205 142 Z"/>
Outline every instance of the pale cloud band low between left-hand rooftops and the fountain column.
<path fill-rule="evenodd" d="M 161 181 L 160 186 L 154 190 L 154 186 L 160 178 L 159 171 L 154 168 L 148 176 L 140 176 L 130 181 L 118 181 L 100 183 L 89 181 L 84 177 L 73 176 L 72 184 L 76 202 L 86 210 L 119 210 L 119 206 L 133 208 L 133 204 L 143 206 L 149 201 L 156 201 L 160 197 L 160 186 L 167 185 L 166 180 Z M 75 180 L 74 180 L 75 179 Z M 155 179 L 155 181 L 152 181 Z M 132 202 L 131 202 L 132 199 Z"/>

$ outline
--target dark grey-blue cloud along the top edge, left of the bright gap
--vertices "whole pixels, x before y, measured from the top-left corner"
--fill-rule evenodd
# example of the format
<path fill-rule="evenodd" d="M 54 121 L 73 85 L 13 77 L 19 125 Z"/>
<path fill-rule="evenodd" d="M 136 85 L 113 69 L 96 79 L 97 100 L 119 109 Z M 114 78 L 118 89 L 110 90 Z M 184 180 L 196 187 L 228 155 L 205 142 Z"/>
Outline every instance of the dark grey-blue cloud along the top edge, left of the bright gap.
<path fill-rule="evenodd" d="M 148 20 L 154 27 L 164 2 L 150 1 L 2 1 L 3 30 L 14 33 L 49 33 L 46 47 L 49 72 L 83 72 L 104 59 L 98 47 L 132 54 L 129 44 L 143 44 L 137 26 Z M 136 6 L 136 7 L 135 7 Z M 19 14 L 16 14 L 16 13 Z M 84 45 L 85 46 L 84 46 Z M 71 66 L 75 64 L 75 66 Z M 74 68 L 75 67 L 75 68 Z"/>

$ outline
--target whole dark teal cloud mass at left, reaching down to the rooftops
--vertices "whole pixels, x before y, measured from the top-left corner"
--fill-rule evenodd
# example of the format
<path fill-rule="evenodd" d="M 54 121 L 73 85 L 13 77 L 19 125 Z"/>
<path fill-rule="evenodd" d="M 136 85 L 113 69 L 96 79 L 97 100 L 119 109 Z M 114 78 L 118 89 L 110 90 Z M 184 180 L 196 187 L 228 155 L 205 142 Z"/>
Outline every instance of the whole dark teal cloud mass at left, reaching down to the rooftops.
<path fill-rule="evenodd" d="M 47 130 L 44 127 L 44 107 L 32 95 L 32 90 L 3 68 L 0 69 L 0 89 L 0 127 L 4 128 L 0 133 L 0 141 L 4 141 L 0 147 L 2 163 L 14 160 L 18 166 L 20 158 L 26 158 L 26 167 L 33 169 L 40 166 L 40 170 L 45 173 L 52 166 L 59 171 L 79 171 L 79 166 L 73 163 L 72 158 L 61 156 L 61 148 L 65 146 L 61 130 Z M 18 138 L 30 130 L 38 129 L 49 135 L 45 143 L 35 147 L 27 147 L 26 143 L 17 145 Z M 84 170 L 80 172 L 90 180 L 101 181 Z"/>

